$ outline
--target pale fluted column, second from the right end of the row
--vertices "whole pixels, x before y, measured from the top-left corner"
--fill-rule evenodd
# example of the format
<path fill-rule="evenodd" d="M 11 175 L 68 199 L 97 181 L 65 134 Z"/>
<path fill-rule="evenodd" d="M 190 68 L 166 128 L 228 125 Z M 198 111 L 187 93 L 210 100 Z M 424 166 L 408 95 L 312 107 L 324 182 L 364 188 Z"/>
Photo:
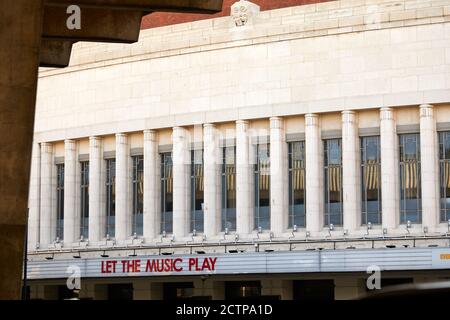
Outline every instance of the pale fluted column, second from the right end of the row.
<path fill-rule="evenodd" d="M 399 221 L 398 137 L 391 108 L 380 109 L 381 206 L 383 228 L 397 228 Z"/>

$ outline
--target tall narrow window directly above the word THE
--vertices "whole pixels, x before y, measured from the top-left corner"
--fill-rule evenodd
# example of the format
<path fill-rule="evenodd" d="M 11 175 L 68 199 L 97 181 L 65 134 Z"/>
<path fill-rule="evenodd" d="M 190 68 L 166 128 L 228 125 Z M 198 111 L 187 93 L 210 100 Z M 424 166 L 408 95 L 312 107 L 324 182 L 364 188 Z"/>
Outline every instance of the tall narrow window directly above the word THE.
<path fill-rule="evenodd" d="M 131 233 L 143 235 L 144 225 L 144 157 L 133 157 L 133 225 Z"/>

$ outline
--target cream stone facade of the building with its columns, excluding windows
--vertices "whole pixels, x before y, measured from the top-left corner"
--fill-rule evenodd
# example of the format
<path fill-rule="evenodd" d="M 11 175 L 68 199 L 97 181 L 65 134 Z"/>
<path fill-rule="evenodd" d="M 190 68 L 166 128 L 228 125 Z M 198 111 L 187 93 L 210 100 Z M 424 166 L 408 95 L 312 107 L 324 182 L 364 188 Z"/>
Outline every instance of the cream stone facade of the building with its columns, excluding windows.
<path fill-rule="evenodd" d="M 77 43 L 68 68 L 40 72 L 29 250 L 39 256 L 56 246 L 57 159 L 66 165 L 64 228 L 70 231 L 63 247 L 86 246 L 76 234 L 73 207 L 76 159 L 84 154 L 91 166 L 87 246 L 113 244 L 103 225 L 104 159 L 110 153 L 117 161 L 116 246 L 136 243 L 132 154 L 144 156 L 144 231 L 138 238 L 149 248 L 175 244 L 177 253 L 186 253 L 187 242 L 444 237 L 437 134 L 450 130 L 449 18 L 450 0 L 340 0 L 255 12 L 251 23 L 238 26 L 226 16 L 148 29 L 134 45 Z M 411 226 L 400 217 L 403 133 L 420 134 L 422 221 Z M 361 220 L 364 136 L 380 137 L 382 223 L 371 229 Z M 324 219 L 323 140 L 333 138 L 342 141 L 343 223 L 332 229 Z M 270 143 L 271 187 L 270 228 L 262 231 L 254 220 L 260 141 Z M 296 230 L 288 224 L 292 141 L 304 141 L 306 166 L 306 225 Z M 204 232 L 193 234 L 189 165 L 198 144 L 204 150 L 205 216 Z M 237 154 L 236 231 L 230 233 L 221 222 L 227 144 Z M 173 236 L 160 232 L 164 151 L 173 152 Z"/>

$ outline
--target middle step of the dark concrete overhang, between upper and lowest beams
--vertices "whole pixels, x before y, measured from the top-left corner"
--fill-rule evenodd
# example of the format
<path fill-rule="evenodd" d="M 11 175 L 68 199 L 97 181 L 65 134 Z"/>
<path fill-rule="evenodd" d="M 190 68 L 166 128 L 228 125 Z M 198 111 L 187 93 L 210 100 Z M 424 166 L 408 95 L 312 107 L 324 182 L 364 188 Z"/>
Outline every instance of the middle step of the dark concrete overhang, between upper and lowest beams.
<path fill-rule="evenodd" d="M 86 8 L 81 12 L 81 29 L 66 26 L 69 15 L 64 7 L 46 6 L 43 39 L 133 43 L 139 39 L 142 11 Z"/>

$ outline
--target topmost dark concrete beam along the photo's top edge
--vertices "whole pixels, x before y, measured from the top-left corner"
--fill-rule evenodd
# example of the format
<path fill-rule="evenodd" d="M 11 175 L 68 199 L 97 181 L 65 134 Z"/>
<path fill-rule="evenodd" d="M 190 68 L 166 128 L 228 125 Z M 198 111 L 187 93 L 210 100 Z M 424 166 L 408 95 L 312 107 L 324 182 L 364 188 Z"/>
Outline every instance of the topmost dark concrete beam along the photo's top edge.
<path fill-rule="evenodd" d="M 110 7 L 114 9 L 166 11 L 183 13 L 215 13 L 222 10 L 223 0 L 47 0 L 46 5 Z"/>

